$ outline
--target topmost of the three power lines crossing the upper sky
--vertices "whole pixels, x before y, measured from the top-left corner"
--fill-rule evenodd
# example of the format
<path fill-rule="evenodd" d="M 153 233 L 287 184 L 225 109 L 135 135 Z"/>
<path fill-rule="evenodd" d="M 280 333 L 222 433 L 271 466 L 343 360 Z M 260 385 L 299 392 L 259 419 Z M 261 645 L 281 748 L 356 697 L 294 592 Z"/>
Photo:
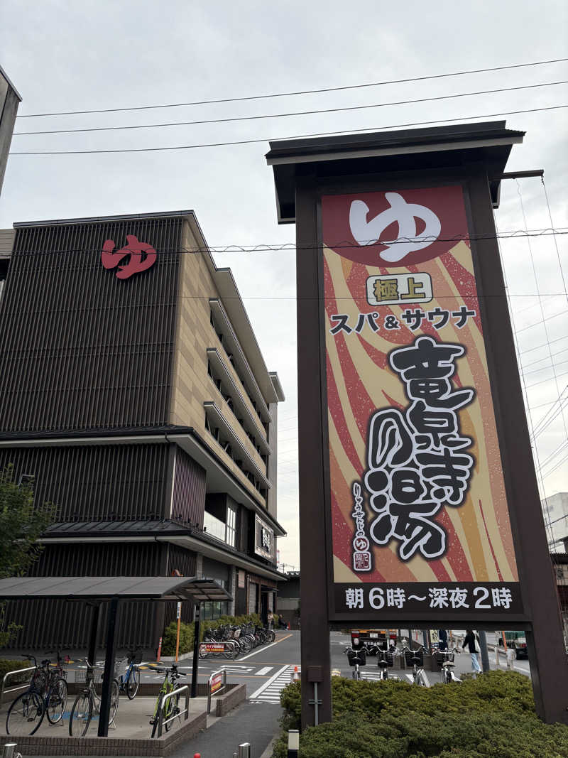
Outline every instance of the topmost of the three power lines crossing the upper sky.
<path fill-rule="evenodd" d="M 467 71 L 453 71 L 450 74 L 429 74 L 425 77 L 409 77 L 407 79 L 392 79 L 392 80 L 386 80 L 383 82 L 370 82 L 370 83 L 364 83 L 364 84 L 351 84 L 346 86 L 338 86 L 338 87 L 325 87 L 323 89 L 302 89 L 298 90 L 296 92 L 270 92 L 267 95 L 249 95 L 249 96 L 241 96 L 241 97 L 231 97 L 231 98 L 220 98 L 220 99 L 214 99 L 214 100 L 198 100 L 194 102 L 176 102 L 176 103 L 168 103 L 167 105 L 132 105 L 129 108 L 98 108 L 95 110 L 89 110 L 89 111 L 59 111 L 58 113 L 28 113 L 28 114 L 21 114 L 17 116 L 17 118 L 37 118 L 41 116 L 72 116 L 76 114 L 87 114 L 87 113 L 119 113 L 123 111 L 148 111 L 148 110 L 154 110 L 156 108 L 184 108 L 189 105 L 214 105 L 217 103 L 223 103 L 223 102 L 242 102 L 244 100 L 264 100 L 268 98 L 277 98 L 277 97 L 292 97 L 297 95 L 317 95 L 321 92 L 340 92 L 345 91 L 347 89 L 363 89 L 364 87 L 378 87 L 378 86 L 385 86 L 387 84 L 404 84 L 407 82 L 423 82 L 429 79 L 444 79 L 447 77 L 461 77 L 465 76 L 466 74 L 485 74 L 488 71 L 504 71 L 507 69 L 513 69 L 513 68 L 525 68 L 529 66 L 544 66 L 545 64 L 550 63 L 563 63 L 564 61 L 568 61 L 568 58 L 554 58 L 551 61 L 534 61 L 532 63 L 516 63 L 516 64 L 510 64 L 507 66 L 494 66 L 491 68 L 475 68 L 470 69 Z"/>

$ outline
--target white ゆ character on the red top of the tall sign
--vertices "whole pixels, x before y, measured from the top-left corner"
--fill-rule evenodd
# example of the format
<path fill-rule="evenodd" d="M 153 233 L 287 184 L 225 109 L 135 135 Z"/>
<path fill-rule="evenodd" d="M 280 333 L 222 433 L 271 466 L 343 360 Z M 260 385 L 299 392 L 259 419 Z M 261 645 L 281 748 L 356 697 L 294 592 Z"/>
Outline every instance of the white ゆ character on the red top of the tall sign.
<path fill-rule="evenodd" d="M 375 245 L 379 242 L 382 232 L 393 224 L 398 224 L 398 240 L 381 242 L 388 249 L 382 250 L 379 256 L 389 262 L 401 261 L 409 252 L 415 252 L 431 245 L 438 239 L 442 224 L 434 211 L 424 205 L 406 202 L 404 197 L 396 192 L 385 193 L 390 208 L 377 214 L 367 221 L 369 206 L 363 200 L 354 200 L 349 209 L 349 227 L 354 240 L 359 245 Z M 422 233 L 417 234 L 416 218 L 421 218 L 426 224 Z"/>

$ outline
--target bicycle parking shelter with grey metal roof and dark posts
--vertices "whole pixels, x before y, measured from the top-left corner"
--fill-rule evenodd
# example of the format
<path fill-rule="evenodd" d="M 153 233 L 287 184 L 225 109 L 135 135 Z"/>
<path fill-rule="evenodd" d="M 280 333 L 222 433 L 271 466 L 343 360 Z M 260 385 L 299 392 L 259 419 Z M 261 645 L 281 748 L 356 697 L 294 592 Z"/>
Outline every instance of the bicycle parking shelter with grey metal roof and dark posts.
<path fill-rule="evenodd" d="M 233 600 L 233 597 L 214 579 L 164 576 L 108 576 L 108 577 L 12 577 L 0 579 L 2 600 L 69 600 L 93 606 L 88 659 L 94 665 L 97 647 L 98 615 L 101 603 L 108 603 L 105 647 L 105 671 L 101 691 L 101 710 L 98 719 L 98 737 L 108 736 L 108 716 L 111 706 L 111 686 L 114 677 L 115 631 L 117 611 L 121 600 L 156 601 L 189 600 L 195 605 L 196 634 L 201 603 L 214 600 Z M 192 666 L 192 691 L 198 676 L 198 656 Z"/>

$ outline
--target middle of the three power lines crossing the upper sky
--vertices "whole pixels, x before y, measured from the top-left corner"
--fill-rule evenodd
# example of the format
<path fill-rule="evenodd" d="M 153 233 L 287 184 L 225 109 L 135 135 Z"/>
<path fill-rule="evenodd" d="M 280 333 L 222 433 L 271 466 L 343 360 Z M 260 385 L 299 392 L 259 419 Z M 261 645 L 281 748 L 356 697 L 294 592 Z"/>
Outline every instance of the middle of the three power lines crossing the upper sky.
<path fill-rule="evenodd" d="M 269 113 L 260 116 L 232 116 L 229 118 L 208 118 L 200 121 L 174 121 L 169 124 L 134 124 L 126 127 L 81 127 L 80 129 L 52 129 L 37 132 L 14 132 L 14 136 L 29 136 L 30 134 L 69 134 L 76 132 L 113 132 L 131 129 L 157 129 L 159 127 L 190 127 L 198 124 L 227 124 L 233 121 L 261 121 L 265 118 L 284 118 L 291 116 L 312 116 L 322 113 L 340 113 L 343 111 L 365 111 L 370 108 L 388 108 L 391 105 L 415 105 L 419 102 L 433 102 L 435 100 L 452 100 L 459 97 L 473 97 L 476 95 L 494 95 L 497 92 L 514 92 L 519 89 L 535 89 L 536 87 L 551 87 L 558 84 L 567 84 L 568 80 L 560 82 L 543 82 L 541 84 L 525 84 L 518 87 L 503 87 L 502 89 L 483 89 L 480 92 L 460 92 L 454 95 L 438 95 L 415 100 L 398 100 L 394 102 L 380 102 L 373 105 L 346 105 L 343 108 L 320 108 L 315 111 L 293 111 L 291 113 Z"/>

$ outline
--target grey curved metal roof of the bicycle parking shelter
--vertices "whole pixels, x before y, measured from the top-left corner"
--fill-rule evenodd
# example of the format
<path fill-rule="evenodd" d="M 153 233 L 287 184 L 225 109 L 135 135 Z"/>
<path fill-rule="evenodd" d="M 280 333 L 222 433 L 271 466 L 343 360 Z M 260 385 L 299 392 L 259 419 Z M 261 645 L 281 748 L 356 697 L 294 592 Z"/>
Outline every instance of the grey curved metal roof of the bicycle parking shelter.
<path fill-rule="evenodd" d="M 0 579 L 0 599 L 233 600 L 214 579 L 167 576 L 46 576 Z"/>

